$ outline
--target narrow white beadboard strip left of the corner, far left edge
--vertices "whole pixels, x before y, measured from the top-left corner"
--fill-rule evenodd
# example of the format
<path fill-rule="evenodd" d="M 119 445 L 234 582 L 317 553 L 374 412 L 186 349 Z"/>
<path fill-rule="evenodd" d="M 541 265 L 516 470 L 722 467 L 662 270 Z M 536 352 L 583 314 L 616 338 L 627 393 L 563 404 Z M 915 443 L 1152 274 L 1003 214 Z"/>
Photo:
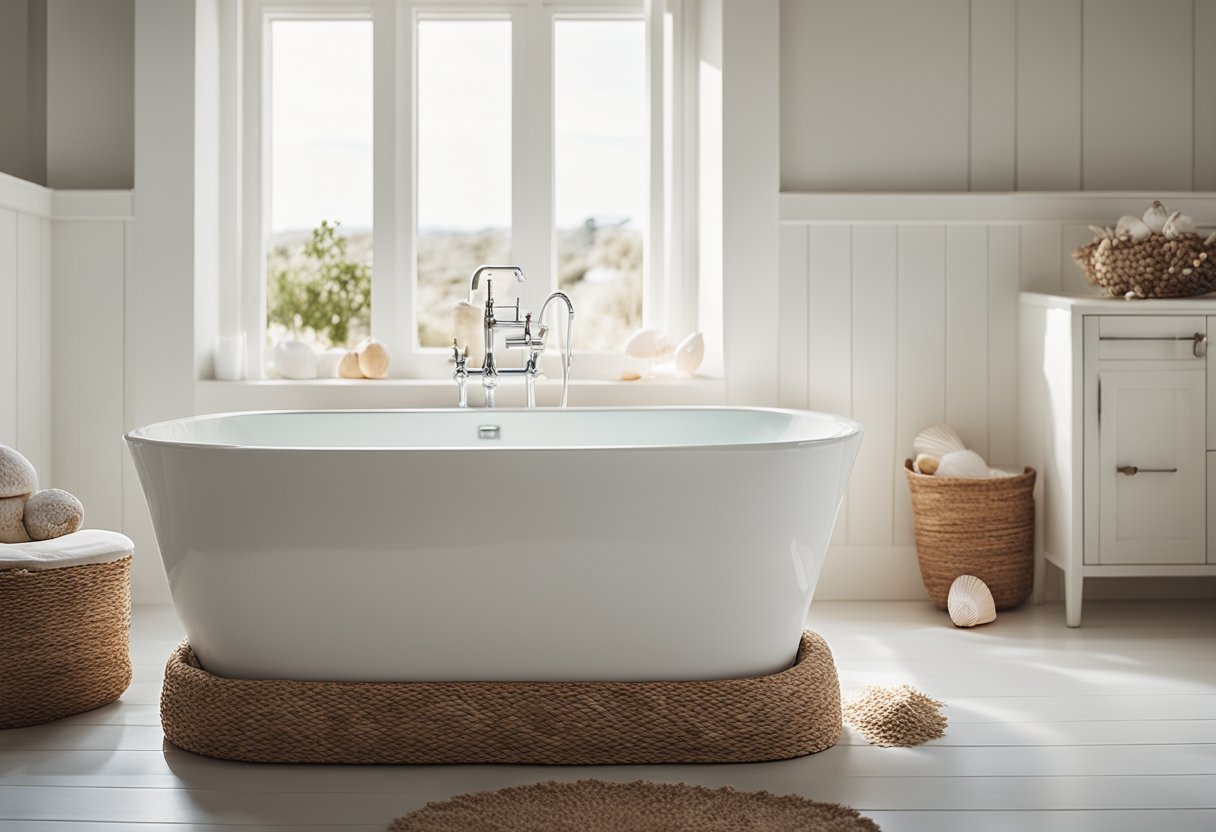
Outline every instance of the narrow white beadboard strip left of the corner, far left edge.
<path fill-rule="evenodd" d="M 51 482 L 51 201 L 0 174 L 0 445 Z"/>

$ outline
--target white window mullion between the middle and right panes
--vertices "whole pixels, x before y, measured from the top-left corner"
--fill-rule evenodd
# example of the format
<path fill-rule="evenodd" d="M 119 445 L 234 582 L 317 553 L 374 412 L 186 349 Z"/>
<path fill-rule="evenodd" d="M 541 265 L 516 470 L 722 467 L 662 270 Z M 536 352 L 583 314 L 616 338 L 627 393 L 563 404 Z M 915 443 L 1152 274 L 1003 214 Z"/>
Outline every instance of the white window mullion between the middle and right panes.
<path fill-rule="evenodd" d="M 520 304 L 540 311 L 553 264 L 553 18 L 540 0 L 512 16 L 512 259 L 524 268 Z"/>

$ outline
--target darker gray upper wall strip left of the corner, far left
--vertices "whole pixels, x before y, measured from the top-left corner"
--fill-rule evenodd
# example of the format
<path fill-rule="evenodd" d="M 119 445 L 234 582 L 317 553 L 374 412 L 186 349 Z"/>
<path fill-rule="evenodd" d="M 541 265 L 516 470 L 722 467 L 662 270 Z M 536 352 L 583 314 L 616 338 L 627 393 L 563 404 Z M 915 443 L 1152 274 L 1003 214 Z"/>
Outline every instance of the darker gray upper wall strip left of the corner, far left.
<path fill-rule="evenodd" d="M 46 184 L 46 0 L 0 0 L 0 172 Z"/>

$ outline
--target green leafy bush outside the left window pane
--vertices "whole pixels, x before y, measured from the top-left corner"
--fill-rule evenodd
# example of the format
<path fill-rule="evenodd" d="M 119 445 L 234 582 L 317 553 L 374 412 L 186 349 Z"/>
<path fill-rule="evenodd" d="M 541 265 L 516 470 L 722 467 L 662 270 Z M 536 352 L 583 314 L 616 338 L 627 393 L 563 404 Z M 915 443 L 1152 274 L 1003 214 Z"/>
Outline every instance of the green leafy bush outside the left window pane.
<path fill-rule="evenodd" d="M 276 246 L 266 259 L 266 320 L 270 331 L 349 347 L 371 328 L 370 252 L 360 262 L 338 235 L 339 223 L 321 220 L 298 248 Z"/>

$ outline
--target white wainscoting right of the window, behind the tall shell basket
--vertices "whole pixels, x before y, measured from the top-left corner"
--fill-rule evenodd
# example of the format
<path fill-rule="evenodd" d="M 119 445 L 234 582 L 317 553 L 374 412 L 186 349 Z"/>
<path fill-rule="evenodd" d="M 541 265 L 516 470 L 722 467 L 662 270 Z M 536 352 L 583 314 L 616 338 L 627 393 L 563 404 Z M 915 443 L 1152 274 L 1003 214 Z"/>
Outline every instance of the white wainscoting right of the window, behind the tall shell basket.
<path fill-rule="evenodd" d="M 783 406 L 866 428 L 818 596 L 918 598 L 902 462 L 947 421 L 996 465 L 1017 444 L 1018 292 L 1094 293 L 1071 259 L 1153 198 L 1198 221 L 1214 193 L 781 196 Z"/>

